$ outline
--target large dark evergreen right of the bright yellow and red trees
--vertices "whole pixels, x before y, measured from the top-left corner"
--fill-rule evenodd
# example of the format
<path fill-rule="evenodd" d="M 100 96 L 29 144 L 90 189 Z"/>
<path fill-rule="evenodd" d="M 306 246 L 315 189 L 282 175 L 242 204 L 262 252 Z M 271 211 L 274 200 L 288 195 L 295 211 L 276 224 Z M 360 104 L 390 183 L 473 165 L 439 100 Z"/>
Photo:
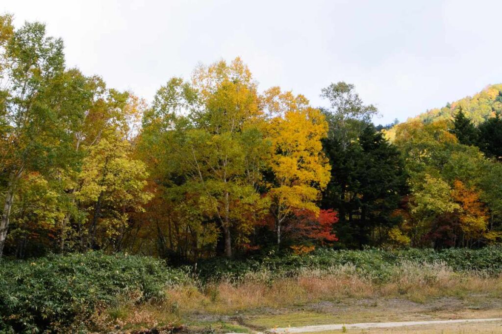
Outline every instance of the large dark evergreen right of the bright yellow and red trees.
<path fill-rule="evenodd" d="M 399 151 L 372 124 L 346 150 L 335 139 L 324 144 L 333 167 L 323 205 L 340 212 L 337 236 L 352 247 L 383 241 L 399 222 L 393 212 L 406 194 Z"/>

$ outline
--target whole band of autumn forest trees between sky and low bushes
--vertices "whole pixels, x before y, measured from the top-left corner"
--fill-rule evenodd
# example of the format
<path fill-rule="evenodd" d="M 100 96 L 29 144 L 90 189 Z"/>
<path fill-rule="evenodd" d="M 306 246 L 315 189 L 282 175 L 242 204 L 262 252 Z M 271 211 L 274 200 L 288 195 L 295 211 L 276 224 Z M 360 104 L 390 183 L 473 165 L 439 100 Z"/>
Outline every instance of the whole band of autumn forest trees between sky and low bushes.
<path fill-rule="evenodd" d="M 235 58 L 151 103 L 0 19 L 0 255 L 190 263 L 315 248 L 480 248 L 502 237 L 502 85 L 375 126 L 338 82 L 316 108 Z"/>

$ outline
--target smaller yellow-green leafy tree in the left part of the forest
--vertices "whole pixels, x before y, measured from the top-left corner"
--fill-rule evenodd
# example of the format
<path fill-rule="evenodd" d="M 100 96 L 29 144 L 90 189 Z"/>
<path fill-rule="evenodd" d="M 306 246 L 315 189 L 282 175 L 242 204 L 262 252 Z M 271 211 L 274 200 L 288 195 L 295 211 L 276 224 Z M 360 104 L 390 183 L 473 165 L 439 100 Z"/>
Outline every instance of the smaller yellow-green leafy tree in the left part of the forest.
<path fill-rule="evenodd" d="M 131 157 L 127 140 L 106 135 L 89 149 L 78 176 L 76 198 L 89 214 L 88 233 L 92 247 L 103 246 L 123 234 L 129 213 L 142 211 L 152 194 L 145 191 L 146 165 Z M 97 240 L 97 231 L 103 238 Z M 115 240 L 116 241 L 116 240 Z M 116 243 L 116 242 L 115 242 Z M 115 244 L 115 248 L 119 248 Z"/>

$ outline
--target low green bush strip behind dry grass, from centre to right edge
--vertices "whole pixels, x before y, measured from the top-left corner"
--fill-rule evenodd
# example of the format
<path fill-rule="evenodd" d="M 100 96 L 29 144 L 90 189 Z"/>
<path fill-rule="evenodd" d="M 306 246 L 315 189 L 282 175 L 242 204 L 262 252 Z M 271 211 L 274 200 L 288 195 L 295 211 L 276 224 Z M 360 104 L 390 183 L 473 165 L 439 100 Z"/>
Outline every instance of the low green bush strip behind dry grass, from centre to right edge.
<path fill-rule="evenodd" d="M 387 281 L 396 266 L 404 262 L 444 263 L 454 271 L 480 271 L 490 275 L 502 273 L 502 247 L 488 246 L 481 249 L 450 248 L 434 249 L 365 250 L 317 249 L 308 254 L 286 254 L 227 260 L 214 258 L 200 261 L 197 273 L 203 281 L 226 278 L 239 281 L 250 273 L 266 271 L 267 277 L 293 277 L 306 269 L 329 270 L 351 264 L 359 274 L 374 282 Z"/>

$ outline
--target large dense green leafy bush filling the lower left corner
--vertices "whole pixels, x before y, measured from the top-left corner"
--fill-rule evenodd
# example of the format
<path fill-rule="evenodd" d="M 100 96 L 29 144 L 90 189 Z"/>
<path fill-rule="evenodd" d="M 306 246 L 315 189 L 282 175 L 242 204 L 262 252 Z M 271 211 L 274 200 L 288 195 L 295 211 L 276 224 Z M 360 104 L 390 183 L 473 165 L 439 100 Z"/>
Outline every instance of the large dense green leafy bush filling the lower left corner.
<path fill-rule="evenodd" d="M 186 279 L 152 257 L 101 252 L 0 263 L 0 332 L 66 331 L 99 306 L 135 293 L 161 300 L 166 285 Z"/>

